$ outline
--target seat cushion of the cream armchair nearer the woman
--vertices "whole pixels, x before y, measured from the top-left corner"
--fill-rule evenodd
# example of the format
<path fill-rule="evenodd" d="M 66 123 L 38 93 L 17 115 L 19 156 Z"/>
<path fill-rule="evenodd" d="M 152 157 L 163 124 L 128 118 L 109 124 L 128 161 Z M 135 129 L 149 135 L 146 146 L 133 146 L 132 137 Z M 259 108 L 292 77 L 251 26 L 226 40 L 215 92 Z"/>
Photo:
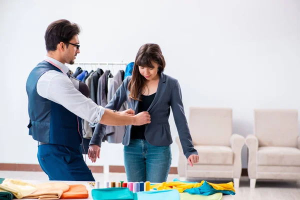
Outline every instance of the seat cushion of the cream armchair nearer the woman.
<path fill-rule="evenodd" d="M 228 146 L 196 145 L 199 162 L 197 164 L 233 164 L 233 151 Z"/>

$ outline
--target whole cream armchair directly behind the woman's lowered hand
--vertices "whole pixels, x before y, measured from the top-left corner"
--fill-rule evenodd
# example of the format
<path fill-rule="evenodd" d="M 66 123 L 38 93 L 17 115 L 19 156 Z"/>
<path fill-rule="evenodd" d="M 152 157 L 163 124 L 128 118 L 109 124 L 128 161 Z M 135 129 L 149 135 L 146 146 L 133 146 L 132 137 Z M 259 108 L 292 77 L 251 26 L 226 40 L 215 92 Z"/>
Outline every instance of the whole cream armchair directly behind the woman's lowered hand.
<path fill-rule="evenodd" d="M 244 137 L 232 134 L 232 109 L 189 108 L 189 130 L 199 162 L 189 166 L 179 138 L 178 173 L 186 178 L 233 178 L 239 186 Z"/>

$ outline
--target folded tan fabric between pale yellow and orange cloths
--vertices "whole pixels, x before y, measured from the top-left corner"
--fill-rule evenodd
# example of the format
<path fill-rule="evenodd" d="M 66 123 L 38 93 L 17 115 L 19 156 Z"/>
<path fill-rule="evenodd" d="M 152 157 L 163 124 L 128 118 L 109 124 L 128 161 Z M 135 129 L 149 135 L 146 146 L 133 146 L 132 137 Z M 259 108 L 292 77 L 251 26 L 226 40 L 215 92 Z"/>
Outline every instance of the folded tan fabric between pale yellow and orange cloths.
<path fill-rule="evenodd" d="M 69 189 L 69 185 L 63 182 L 45 182 L 35 186 L 37 190 L 24 196 L 25 198 L 59 199 L 61 194 Z"/>

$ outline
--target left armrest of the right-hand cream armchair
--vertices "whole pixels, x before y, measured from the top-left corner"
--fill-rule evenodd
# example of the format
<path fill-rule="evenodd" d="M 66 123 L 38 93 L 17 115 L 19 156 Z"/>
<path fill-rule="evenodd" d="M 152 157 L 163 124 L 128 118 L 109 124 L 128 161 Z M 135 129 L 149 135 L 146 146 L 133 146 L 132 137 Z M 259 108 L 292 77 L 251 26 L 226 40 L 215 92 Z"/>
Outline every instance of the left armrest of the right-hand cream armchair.
<path fill-rule="evenodd" d="M 256 179 L 258 139 L 254 134 L 249 134 L 246 136 L 245 143 L 248 147 L 248 176 Z"/>

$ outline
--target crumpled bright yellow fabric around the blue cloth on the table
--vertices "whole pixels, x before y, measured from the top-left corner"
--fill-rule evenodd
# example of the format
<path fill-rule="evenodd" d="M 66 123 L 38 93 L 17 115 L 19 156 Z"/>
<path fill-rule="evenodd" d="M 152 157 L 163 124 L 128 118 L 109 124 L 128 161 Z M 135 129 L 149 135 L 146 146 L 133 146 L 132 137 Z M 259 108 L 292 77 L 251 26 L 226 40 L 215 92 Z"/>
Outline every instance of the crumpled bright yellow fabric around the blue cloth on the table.
<path fill-rule="evenodd" d="M 204 180 L 197 183 L 189 183 L 189 182 L 181 182 L 181 181 L 172 181 L 172 182 L 162 182 L 158 184 L 151 185 L 150 188 L 156 188 L 157 190 L 163 189 L 177 189 L 179 192 L 183 192 L 185 189 L 191 189 L 200 187 L 203 184 Z M 215 184 L 211 182 L 207 182 L 216 190 L 231 190 L 234 191 L 233 182 Z"/>

